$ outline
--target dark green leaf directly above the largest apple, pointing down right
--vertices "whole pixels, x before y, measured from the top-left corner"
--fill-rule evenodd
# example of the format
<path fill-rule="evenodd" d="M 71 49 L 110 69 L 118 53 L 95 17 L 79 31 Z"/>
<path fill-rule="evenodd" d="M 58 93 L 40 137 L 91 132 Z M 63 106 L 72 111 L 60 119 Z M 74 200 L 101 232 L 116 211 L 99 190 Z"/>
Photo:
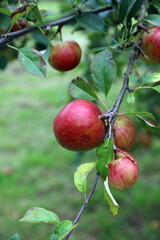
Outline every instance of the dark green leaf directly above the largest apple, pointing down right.
<path fill-rule="evenodd" d="M 90 101 L 98 99 L 90 83 L 85 78 L 81 77 L 77 77 L 70 82 L 68 92 L 74 98 L 83 98 Z"/>

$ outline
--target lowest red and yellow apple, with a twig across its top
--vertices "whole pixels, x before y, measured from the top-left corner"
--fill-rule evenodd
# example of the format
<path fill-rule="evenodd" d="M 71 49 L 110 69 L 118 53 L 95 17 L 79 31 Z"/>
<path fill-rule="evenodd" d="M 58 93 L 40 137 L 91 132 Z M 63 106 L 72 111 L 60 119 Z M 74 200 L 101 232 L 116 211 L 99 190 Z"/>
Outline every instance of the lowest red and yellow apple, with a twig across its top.
<path fill-rule="evenodd" d="M 126 155 L 124 155 L 124 154 Z M 116 159 L 109 164 L 108 184 L 110 188 L 124 190 L 134 185 L 138 179 L 138 164 L 135 158 L 127 153 L 117 151 Z"/>

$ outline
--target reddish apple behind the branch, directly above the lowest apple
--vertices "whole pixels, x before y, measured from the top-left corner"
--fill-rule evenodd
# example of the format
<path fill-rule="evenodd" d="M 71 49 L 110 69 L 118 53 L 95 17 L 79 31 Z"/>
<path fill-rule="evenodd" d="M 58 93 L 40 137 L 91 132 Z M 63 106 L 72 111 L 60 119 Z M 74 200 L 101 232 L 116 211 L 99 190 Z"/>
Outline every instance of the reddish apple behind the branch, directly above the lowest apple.
<path fill-rule="evenodd" d="M 124 151 L 131 149 L 136 137 L 136 127 L 133 120 L 126 114 L 118 115 L 113 128 L 116 147 Z"/>

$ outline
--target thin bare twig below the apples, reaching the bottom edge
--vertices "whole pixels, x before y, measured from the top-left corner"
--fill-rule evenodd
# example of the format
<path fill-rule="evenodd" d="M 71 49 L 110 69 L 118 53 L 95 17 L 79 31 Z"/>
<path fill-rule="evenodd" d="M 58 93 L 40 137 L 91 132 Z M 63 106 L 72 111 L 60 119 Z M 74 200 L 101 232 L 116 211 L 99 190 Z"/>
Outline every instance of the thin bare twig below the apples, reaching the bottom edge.
<path fill-rule="evenodd" d="M 99 176 L 100 176 L 99 173 L 97 173 L 97 174 L 96 174 L 95 181 L 94 181 L 94 184 L 93 184 L 93 187 L 92 187 L 92 189 L 91 189 L 91 191 L 90 191 L 90 193 L 89 193 L 89 195 L 88 195 L 88 197 L 87 197 L 85 203 L 83 204 L 81 210 L 79 211 L 77 217 L 75 218 L 73 224 L 76 224 L 76 223 L 78 222 L 78 220 L 79 220 L 80 216 L 82 215 L 82 213 L 83 213 L 85 207 L 87 206 L 87 204 L 88 204 L 90 198 L 92 197 L 92 195 L 93 195 L 93 193 L 94 193 L 94 190 L 95 190 L 95 188 L 96 188 L 96 186 L 97 186 L 97 182 L 98 182 L 98 180 L 99 180 Z M 73 230 L 72 230 L 72 231 L 73 231 Z M 69 239 L 69 237 L 70 237 L 72 231 L 70 231 L 70 232 L 67 234 L 65 240 Z"/>

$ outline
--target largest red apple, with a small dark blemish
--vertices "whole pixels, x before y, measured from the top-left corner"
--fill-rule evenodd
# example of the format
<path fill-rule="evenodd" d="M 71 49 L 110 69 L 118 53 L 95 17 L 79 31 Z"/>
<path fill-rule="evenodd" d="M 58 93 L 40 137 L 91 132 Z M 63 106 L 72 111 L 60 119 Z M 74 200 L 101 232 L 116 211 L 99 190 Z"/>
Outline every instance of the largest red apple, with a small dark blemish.
<path fill-rule="evenodd" d="M 91 101 L 78 99 L 56 116 L 53 131 L 61 146 L 72 151 L 88 151 L 99 146 L 105 136 L 100 109 Z"/>

